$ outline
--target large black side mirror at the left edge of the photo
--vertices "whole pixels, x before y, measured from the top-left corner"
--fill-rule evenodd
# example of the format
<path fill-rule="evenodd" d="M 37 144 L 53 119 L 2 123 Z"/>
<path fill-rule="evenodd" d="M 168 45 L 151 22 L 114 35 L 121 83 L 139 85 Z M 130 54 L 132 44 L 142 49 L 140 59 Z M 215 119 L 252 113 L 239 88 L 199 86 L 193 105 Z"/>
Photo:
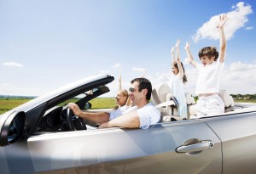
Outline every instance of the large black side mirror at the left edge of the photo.
<path fill-rule="evenodd" d="M 0 132 L 0 146 L 15 143 L 23 136 L 25 112 L 15 111 L 4 121 Z"/>

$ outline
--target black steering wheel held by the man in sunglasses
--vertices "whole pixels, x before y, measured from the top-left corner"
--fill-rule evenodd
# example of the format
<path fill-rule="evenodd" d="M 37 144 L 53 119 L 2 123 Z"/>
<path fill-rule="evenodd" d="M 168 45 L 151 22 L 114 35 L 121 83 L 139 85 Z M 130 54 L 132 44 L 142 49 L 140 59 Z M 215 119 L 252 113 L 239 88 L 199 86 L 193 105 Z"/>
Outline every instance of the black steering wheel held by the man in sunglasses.
<path fill-rule="evenodd" d="M 76 115 L 73 115 L 71 109 L 67 108 L 67 129 L 69 131 L 79 131 L 79 130 L 86 130 L 86 125 L 82 118 L 79 118 Z"/>

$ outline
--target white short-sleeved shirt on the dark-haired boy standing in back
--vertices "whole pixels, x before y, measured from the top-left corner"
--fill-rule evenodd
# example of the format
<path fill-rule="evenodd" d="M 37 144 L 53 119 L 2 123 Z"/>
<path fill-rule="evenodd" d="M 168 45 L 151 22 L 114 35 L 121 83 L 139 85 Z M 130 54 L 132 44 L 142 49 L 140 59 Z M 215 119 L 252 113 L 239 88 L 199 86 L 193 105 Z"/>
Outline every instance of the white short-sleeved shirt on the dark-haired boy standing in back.
<path fill-rule="evenodd" d="M 210 65 L 196 64 L 196 69 L 199 71 L 195 94 L 201 93 L 218 93 L 220 73 L 224 68 L 224 63 L 219 60 L 212 62 Z"/>

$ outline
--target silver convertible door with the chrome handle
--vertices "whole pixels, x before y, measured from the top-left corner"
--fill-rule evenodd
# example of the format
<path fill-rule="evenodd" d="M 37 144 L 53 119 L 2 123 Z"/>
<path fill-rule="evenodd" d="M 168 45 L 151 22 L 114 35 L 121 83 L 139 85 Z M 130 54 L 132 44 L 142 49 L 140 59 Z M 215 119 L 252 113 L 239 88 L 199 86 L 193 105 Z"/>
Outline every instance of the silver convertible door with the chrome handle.
<path fill-rule="evenodd" d="M 27 149 L 36 172 L 222 172 L 221 143 L 203 121 L 48 133 L 28 138 Z"/>

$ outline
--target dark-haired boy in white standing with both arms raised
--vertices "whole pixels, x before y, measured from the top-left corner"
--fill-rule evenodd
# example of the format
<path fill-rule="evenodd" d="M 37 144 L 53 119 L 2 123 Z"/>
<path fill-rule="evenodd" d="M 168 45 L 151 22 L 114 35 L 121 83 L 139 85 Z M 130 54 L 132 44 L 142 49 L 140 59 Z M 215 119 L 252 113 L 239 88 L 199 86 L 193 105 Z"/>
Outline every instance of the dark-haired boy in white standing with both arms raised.
<path fill-rule="evenodd" d="M 197 116 L 210 116 L 224 113 L 224 102 L 218 96 L 220 74 L 224 68 L 224 59 L 226 52 L 226 39 L 224 36 L 224 24 L 228 20 L 226 15 L 219 16 L 217 28 L 219 32 L 220 51 L 215 47 L 201 48 L 198 53 L 201 64 L 193 59 L 189 51 L 189 43 L 186 44 L 186 52 L 189 63 L 199 71 L 195 94 L 199 96 L 197 101 Z"/>

